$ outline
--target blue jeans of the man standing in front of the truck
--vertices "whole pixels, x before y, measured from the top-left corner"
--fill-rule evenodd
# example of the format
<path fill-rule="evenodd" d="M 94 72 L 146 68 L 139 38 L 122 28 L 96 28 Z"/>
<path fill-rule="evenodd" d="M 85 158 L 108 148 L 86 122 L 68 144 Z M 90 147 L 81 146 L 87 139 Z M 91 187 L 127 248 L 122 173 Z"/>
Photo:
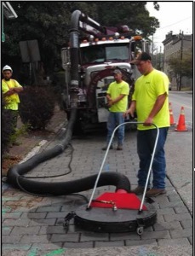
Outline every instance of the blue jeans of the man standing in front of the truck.
<path fill-rule="evenodd" d="M 112 132 L 116 128 L 116 126 L 123 124 L 124 118 L 123 118 L 123 112 L 115 113 L 110 112 L 108 115 L 107 120 L 107 138 L 106 142 L 107 144 L 110 142 L 110 139 L 112 137 Z M 123 145 L 123 138 L 124 138 L 124 125 L 121 125 L 118 130 L 116 131 L 118 136 L 118 145 Z M 113 140 L 112 140 L 113 142 Z"/>

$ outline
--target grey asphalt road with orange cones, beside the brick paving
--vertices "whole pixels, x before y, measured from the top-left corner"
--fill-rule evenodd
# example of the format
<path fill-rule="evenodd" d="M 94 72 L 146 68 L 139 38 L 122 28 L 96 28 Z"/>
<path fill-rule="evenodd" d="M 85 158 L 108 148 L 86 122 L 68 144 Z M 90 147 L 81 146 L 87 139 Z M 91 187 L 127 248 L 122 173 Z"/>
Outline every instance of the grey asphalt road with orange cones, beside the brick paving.
<path fill-rule="evenodd" d="M 172 103 L 176 125 L 181 113 L 181 106 L 184 107 L 188 131 L 175 131 L 175 126 L 169 129 L 165 145 L 167 175 L 192 212 L 192 93 L 171 91 L 169 102 Z"/>

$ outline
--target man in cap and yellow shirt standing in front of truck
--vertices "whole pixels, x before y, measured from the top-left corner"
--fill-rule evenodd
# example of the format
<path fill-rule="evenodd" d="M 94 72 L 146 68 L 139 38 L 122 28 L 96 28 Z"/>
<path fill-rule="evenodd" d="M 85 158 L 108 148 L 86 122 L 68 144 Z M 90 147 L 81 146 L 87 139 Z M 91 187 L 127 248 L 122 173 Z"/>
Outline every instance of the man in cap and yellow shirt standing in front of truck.
<path fill-rule="evenodd" d="M 129 84 L 123 81 L 123 74 L 119 69 L 114 71 L 114 79 L 108 86 L 106 91 L 107 105 L 109 107 L 109 116 L 107 120 L 107 138 L 106 143 L 110 142 L 112 132 L 116 126 L 124 122 L 123 112 L 128 108 L 128 95 Z M 124 138 L 124 125 L 121 125 L 117 131 L 118 134 L 118 148 L 117 150 L 123 150 L 123 138 Z M 106 147 L 102 150 L 106 150 Z M 109 149 L 112 149 L 113 145 Z"/>

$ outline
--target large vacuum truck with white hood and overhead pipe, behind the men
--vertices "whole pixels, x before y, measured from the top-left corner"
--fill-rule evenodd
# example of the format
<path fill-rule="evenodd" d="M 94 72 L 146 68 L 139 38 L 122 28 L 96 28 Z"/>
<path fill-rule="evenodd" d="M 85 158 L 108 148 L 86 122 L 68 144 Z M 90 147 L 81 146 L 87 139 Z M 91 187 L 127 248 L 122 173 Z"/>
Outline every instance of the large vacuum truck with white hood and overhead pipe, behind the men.
<path fill-rule="evenodd" d="M 67 119 L 71 109 L 77 108 L 75 130 L 106 124 L 106 90 L 116 68 L 129 84 L 130 103 L 135 79 L 140 76 L 130 61 L 141 51 L 149 52 L 149 42 L 129 26 L 100 26 L 79 10 L 72 13 L 70 42 L 61 49 L 61 57 L 66 81 L 63 106 Z"/>

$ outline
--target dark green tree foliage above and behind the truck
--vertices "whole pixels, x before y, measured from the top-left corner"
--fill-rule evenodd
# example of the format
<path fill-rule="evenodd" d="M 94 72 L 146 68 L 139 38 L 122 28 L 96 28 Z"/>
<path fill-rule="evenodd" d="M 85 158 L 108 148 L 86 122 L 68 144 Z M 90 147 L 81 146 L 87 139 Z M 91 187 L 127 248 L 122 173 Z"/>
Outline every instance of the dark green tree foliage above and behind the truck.
<path fill-rule="evenodd" d="M 9 59 L 9 56 L 20 59 L 19 42 L 37 39 L 46 73 L 61 69 L 60 49 L 69 41 L 71 14 L 75 9 L 102 26 L 128 25 L 133 30 L 141 30 L 145 37 L 159 27 L 158 20 L 149 17 L 146 2 L 12 1 L 11 4 L 18 18 L 4 19 L 3 59 Z M 154 8 L 159 8 L 157 2 L 154 2 Z"/>

